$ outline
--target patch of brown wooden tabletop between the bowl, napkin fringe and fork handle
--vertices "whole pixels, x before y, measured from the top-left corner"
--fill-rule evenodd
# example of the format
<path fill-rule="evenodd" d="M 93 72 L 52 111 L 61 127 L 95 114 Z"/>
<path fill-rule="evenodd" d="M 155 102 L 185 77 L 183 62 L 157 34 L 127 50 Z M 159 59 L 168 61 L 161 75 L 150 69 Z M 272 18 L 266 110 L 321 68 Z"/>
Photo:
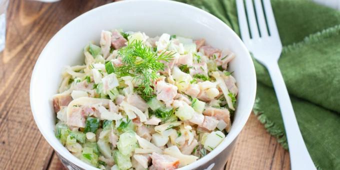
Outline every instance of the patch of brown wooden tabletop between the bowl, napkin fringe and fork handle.
<path fill-rule="evenodd" d="M 290 169 L 289 161 L 288 151 L 251 113 L 225 169 Z"/>

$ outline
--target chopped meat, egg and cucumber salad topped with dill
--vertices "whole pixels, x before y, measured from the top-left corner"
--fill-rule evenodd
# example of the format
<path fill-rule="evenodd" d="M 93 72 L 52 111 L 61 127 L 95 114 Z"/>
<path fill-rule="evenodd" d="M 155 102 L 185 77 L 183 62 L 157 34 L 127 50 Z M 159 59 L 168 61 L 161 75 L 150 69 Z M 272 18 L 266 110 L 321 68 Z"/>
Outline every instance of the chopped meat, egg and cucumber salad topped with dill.
<path fill-rule="evenodd" d="M 100 169 L 176 169 L 228 133 L 238 92 L 234 54 L 163 33 L 103 30 L 65 66 L 53 106 L 55 135 Z"/>

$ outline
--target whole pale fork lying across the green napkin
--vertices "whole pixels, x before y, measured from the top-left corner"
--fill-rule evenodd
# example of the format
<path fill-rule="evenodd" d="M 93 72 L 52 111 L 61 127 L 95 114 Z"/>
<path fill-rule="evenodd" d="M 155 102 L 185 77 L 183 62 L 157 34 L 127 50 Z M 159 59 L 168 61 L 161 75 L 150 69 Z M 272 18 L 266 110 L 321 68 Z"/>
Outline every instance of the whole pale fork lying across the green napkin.
<path fill-rule="evenodd" d="M 282 44 L 270 0 L 244 1 L 245 5 L 243 0 L 236 0 L 241 37 L 245 46 L 270 74 L 288 140 L 290 167 L 293 170 L 316 169 L 298 128 L 289 94 L 277 64 Z"/>

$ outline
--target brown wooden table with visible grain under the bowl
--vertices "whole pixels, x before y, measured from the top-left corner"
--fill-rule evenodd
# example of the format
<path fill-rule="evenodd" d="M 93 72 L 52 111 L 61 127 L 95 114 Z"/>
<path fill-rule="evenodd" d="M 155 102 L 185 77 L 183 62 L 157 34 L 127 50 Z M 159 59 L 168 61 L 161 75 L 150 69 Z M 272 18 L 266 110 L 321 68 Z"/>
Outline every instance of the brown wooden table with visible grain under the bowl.
<path fill-rule="evenodd" d="M 10 0 L 6 48 L 0 53 L 0 169 L 65 169 L 34 123 L 31 71 L 44 45 L 63 25 L 109 2 Z M 251 114 L 226 169 L 289 169 L 289 154 Z"/>

